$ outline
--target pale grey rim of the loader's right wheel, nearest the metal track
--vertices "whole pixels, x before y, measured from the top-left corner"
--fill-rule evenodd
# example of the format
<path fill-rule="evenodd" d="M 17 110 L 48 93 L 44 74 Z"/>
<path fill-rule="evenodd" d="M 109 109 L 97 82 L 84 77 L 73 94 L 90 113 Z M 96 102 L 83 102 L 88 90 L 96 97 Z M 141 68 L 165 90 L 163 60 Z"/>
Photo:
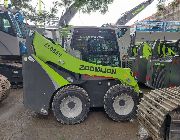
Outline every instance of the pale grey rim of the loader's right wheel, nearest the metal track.
<path fill-rule="evenodd" d="M 115 98 L 113 108 L 118 115 L 128 115 L 134 108 L 133 98 L 127 94 L 121 94 Z"/>

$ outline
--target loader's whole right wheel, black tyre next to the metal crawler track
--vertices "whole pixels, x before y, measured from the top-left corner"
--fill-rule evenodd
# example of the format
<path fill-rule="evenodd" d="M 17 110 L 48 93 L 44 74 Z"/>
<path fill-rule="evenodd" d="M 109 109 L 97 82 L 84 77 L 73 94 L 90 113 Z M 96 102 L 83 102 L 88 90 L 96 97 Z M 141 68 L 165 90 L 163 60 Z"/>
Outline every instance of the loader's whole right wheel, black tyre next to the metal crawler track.
<path fill-rule="evenodd" d="M 114 121 L 129 121 L 136 117 L 138 94 L 130 87 L 112 86 L 104 96 L 104 109 Z"/>

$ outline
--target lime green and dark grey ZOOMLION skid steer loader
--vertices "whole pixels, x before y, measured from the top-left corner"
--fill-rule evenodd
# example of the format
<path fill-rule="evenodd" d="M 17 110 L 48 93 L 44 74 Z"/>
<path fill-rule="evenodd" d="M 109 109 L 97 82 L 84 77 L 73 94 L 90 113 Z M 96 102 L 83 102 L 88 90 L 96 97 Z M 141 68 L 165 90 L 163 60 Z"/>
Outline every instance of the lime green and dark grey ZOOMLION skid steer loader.
<path fill-rule="evenodd" d="M 104 32 L 108 33 L 103 36 Z M 86 44 L 86 47 L 76 44 L 80 52 L 84 51 L 77 58 L 58 43 L 35 32 L 26 42 L 28 54 L 23 57 L 24 105 L 43 115 L 48 115 L 52 109 L 56 119 L 63 124 L 80 123 L 87 117 L 90 107 L 103 106 L 114 121 L 133 119 L 141 93 L 131 70 L 108 66 L 107 60 L 92 59 L 92 38 L 101 40 L 99 45 L 103 46 L 103 51 L 96 49 L 99 45 L 94 47 L 96 58 L 114 55 L 104 54 L 111 44 L 108 37 L 115 35 L 116 38 L 114 29 L 98 29 L 96 35 L 95 38 L 89 35 L 89 41 L 79 36 L 77 40 L 83 40 L 81 45 Z M 75 42 L 80 43 L 78 41 Z M 113 45 L 116 43 L 110 46 Z"/>

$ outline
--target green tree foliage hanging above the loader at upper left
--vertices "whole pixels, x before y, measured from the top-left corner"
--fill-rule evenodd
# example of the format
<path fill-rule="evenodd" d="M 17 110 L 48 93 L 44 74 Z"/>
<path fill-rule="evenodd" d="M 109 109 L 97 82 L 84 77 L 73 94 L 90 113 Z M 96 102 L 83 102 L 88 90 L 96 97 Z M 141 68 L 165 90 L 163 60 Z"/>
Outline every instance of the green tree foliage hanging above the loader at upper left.
<path fill-rule="evenodd" d="M 64 9 L 63 19 L 67 18 L 69 14 L 70 20 L 77 11 L 82 11 L 84 13 L 90 13 L 92 11 L 99 11 L 102 14 L 108 11 L 108 5 L 114 0 L 56 0 L 53 2 L 53 7 L 50 11 L 43 10 L 41 13 L 36 11 L 36 7 L 30 5 L 32 0 L 12 0 L 13 5 L 17 9 L 23 10 L 25 16 L 32 21 L 44 21 L 44 19 L 50 19 L 55 17 L 60 8 Z M 61 23 L 62 23 L 61 22 Z M 66 21 L 65 21 L 66 22 Z"/>

